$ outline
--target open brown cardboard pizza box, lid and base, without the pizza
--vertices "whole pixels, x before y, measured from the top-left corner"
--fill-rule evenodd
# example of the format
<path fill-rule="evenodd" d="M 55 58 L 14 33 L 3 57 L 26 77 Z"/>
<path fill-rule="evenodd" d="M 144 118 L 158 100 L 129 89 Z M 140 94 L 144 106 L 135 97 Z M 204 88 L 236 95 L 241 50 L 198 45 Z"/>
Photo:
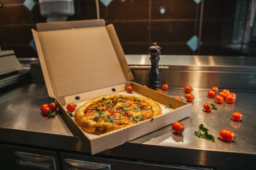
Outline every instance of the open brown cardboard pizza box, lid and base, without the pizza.
<path fill-rule="evenodd" d="M 161 94 L 135 82 L 112 24 L 104 20 L 38 23 L 32 29 L 47 91 L 58 109 L 87 145 L 91 154 L 119 146 L 190 116 L 191 104 Z M 102 135 L 85 132 L 67 114 L 66 105 L 84 104 L 102 95 L 126 93 L 160 103 L 162 114 Z M 170 104 L 172 108 L 165 108 Z M 74 114 L 74 112 L 73 112 Z"/>

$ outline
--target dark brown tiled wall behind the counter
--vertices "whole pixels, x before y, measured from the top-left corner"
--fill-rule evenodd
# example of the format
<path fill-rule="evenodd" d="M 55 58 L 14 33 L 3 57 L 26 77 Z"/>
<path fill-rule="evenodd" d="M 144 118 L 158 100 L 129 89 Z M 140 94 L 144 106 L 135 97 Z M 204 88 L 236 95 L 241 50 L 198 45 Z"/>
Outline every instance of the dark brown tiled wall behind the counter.
<path fill-rule="evenodd" d="M 29 11 L 24 0 L 0 0 L 2 50 L 13 49 L 17 57 L 37 57 L 29 45 L 31 28 L 46 18 L 40 15 L 38 0 L 34 1 Z M 95 0 L 74 0 L 74 5 L 75 14 L 68 20 L 96 19 Z M 245 27 L 250 5 L 251 0 L 204 0 L 198 4 L 194 0 L 114 0 L 108 7 L 99 2 L 100 18 L 114 24 L 125 54 L 147 54 L 148 47 L 157 42 L 162 54 L 255 56 L 255 37 L 246 38 L 253 29 Z M 194 35 L 202 42 L 195 51 L 186 44 Z"/>

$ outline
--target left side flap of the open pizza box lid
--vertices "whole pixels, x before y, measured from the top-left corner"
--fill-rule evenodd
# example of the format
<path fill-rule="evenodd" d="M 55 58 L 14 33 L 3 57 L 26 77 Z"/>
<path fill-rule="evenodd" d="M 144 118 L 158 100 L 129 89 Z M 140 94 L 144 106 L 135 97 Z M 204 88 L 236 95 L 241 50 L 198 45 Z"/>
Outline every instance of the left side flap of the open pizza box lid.
<path fill-rule="evenodd" d="M 54 94 L 52 83 L 51 83 L 49 73 L 48 73 L 48 70 L 47 70 L 47 65 L 46 65 L 46 62 L 44 60 L 44 53 L 43 53 L 43 50 L 42 50 L 42 46 L 41 46 L 41 42 L 40 42 L 38 32 L 35 31 L 34 29 L 31 29 L 31 31 L 32 31 L 32 34 L 33 34 L 33 37 L 34 37 L 35 46 L 37 47 L 37 53 L 38 53 L 38 57 L 39 57 L 39 60 L 40 60 L 40 64 L 41 64 L 45 84 L 46 84 L 46 87 L 47 87 L 48 95 L 49 95 L 49 97 L 55 98 L 56 96 Z"/>

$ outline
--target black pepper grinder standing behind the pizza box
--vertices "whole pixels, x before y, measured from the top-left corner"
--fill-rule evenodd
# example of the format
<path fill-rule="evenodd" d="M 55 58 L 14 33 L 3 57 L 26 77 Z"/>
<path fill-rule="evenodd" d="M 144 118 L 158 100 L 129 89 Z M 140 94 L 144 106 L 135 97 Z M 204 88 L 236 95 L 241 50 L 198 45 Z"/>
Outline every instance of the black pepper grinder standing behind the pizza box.
<path fill-rule="evenodd" d="M 161 71 L 158 68 L 158 63 L 160 60 L 159 55 L 162 52 L 161 47 L 157 46 L 156 43 L 148 49 L 148 54 L 150 54 L 151 69 L 148 73 L 149 83 L 148 86 L 151 89 L 161 88 Z"/>

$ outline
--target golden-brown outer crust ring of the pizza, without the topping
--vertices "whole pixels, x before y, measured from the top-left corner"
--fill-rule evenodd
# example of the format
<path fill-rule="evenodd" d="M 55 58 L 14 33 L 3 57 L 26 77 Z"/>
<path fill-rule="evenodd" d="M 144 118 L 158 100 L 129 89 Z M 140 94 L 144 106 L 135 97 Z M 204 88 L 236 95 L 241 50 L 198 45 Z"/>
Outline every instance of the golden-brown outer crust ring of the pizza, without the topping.
<path fill-rule="evenodd" d="M 123 128 L 125 126 L 113 124 L 111 122 L 105 122 L 105 121 L 96 122 L 96 121 L 90 120 L 87 117 L 85 117 L 84 112 L 89 106 L 102 101 L 102 98 L 104 98 L 104 99 L 112 99 L 112 98 L 120 99 L 120 98 L 134 98 L 134 97 L 137 100 L 139 100 L 140 102 L 147 103 L 151 107 L 151 111 L 153 113 L 152 117 L 158 116 L 162 113 L 162 109 L 159 106 L 159 104 L 150 98 L 138 97 L 138 96 L 132 96 L 132 95 L 104 95 L 104 96 L 100 96 L 95 99 L 92 99 L 92 100 L 88 101 L 87 103 L 83 104 L 81 107 L 79 107 L 75 111 L 74 120 L 77 123 L 77 125 L 79 125 L 83 130 L 93 133 L 93 134 L 103 134 L 106 132 L 110 132 L 110 131 L 114 131 L 114 130 Z M 152 117 L 149 120 L 151 120 Z M 142 120 L 142 121 L 145 121 L 145 120 Z"/>

